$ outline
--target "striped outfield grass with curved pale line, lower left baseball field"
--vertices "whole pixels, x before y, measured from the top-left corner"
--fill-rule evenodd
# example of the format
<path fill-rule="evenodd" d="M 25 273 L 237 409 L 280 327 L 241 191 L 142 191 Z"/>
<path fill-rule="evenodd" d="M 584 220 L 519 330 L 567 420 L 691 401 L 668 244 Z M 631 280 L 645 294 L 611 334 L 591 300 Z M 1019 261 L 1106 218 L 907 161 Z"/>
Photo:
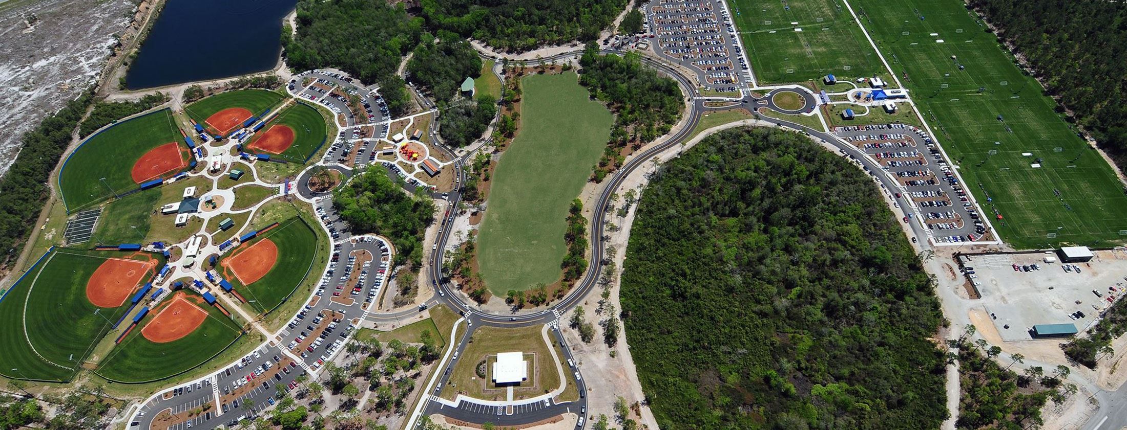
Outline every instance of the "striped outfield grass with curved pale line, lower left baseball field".
<path fill-rule="evenodd" d="M 68 380 L 128 308 L 99 308 L 86 297 L 90 275 L 124 252 L 55 249 L 0 301 L 0 375 Z M 98 314 L 95 314 L 98 311 Z M 34 348 L 34 349 L 33 349 Z M 11 370 L 11 369 L 16 370 Z"/>

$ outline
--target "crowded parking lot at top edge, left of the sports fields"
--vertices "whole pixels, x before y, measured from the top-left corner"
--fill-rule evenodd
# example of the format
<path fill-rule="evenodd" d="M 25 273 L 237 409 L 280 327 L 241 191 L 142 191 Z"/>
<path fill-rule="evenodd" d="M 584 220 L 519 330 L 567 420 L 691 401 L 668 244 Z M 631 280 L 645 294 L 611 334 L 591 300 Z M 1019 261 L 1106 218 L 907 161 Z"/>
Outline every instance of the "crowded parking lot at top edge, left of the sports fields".
<path fill-rule="evenodd" d="M 699 83 L 710 90 L 747 87 L 751 69 L 722 1 L 654 0 L 645 10 L 658 55 L 696 73 Z"/>

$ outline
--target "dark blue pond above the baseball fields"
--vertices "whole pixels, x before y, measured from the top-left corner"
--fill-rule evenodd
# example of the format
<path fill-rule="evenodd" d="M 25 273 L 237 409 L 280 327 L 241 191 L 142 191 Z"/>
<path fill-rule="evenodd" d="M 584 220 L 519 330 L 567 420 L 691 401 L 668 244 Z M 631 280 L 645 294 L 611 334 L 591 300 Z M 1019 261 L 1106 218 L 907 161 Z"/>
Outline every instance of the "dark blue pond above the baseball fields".
<path fill-rule="evenodd" d="M 168 0 L 126 74 L 131 90 L 277 65 L 282 18 L 298 0 Z"/>

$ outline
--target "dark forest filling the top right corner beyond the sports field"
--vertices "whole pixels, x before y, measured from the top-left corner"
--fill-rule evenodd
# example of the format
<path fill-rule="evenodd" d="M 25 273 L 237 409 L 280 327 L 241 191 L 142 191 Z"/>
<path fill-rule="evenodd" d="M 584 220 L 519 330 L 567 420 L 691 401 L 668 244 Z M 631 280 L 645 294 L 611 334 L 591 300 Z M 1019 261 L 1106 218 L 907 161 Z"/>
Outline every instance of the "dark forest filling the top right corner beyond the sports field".
<path fill-rule="evenodd" d="M 970 0 L 1045 83 L 1127 168 L 1127 6 L 1095 0 Z"/>

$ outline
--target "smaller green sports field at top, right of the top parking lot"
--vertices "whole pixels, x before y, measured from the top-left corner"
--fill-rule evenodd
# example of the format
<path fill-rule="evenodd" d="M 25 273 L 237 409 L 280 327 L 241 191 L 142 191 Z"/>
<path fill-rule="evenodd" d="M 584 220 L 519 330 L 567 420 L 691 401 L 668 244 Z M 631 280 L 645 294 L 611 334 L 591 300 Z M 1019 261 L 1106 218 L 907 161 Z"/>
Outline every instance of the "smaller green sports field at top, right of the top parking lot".
<path fill-rule="evenodd" d="M 884 71 L 840 0 L 728 0 L 728 5 L 760 83 Z"/>

